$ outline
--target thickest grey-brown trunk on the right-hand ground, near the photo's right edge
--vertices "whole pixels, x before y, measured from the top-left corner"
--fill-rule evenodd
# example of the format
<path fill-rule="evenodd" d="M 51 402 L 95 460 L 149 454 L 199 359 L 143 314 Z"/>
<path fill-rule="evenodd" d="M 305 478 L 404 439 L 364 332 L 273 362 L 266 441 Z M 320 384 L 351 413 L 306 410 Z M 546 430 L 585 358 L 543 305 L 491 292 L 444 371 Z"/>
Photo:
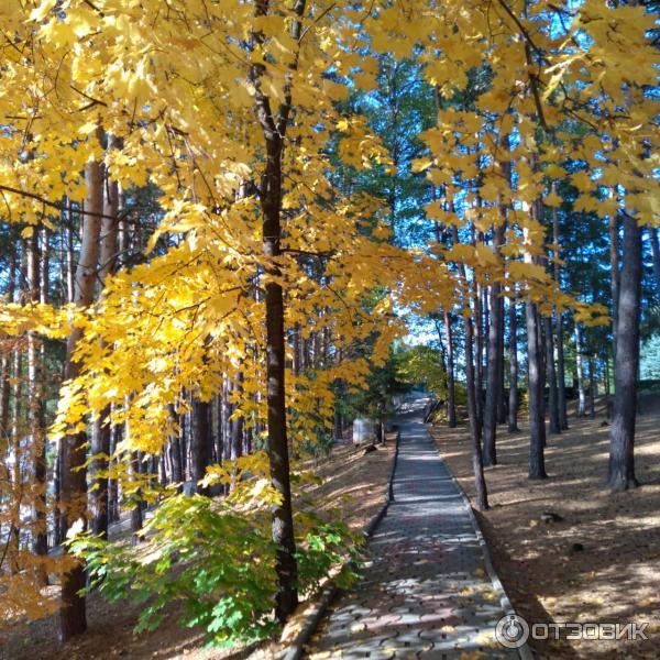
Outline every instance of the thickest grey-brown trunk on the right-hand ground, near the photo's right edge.
<path fill-rule="evenodd" d="M 641 301 L 641 229 L 624 215 L 624 254 L 618 299 L 614 365 L 614 411 L 609 444 L 609 487 L 613 492 L 638 485 L 635 477 L 635 417 L 639 367 Z"/>

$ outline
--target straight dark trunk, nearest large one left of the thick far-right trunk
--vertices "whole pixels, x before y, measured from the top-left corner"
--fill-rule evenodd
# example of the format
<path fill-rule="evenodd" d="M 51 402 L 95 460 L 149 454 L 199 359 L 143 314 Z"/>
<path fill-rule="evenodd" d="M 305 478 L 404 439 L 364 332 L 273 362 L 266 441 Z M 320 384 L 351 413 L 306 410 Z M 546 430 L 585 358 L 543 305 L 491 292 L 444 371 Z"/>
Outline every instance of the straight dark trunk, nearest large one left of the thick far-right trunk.
<path fill-rule="evenodd" d="M 546 479 L 546 420 L 543 418 L 543 370 L 538 312 L 531 299 L 525 304 L 527 320 L 527 383 L 529 399 L 529 479 Z"/>

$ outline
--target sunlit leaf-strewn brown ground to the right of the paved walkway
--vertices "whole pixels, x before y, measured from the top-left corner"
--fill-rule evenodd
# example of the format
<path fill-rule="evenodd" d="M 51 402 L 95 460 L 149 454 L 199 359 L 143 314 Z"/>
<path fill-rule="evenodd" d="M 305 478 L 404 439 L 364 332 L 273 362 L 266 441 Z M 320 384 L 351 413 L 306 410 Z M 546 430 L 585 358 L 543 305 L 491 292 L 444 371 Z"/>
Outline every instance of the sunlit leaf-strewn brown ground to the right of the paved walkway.
<path fill-rule="evenodd" d="M 499 578 L 517 613 L 532 623 L 647 623 L 648 640 L 539 640 L 540 658 L 658 658 L 660 645 L 660 397 L 638 417 L 636 472 L 642 486 L 605 488 L 609 427 L 570 415 L 570 429 L 549 436 L 549 479 L 527 480 L 529 437 L 524 424 L 498 428 L 499 464 L 486 470 L 491 509 L 477 514 Z M 436 442 L 474 501 L 465 427 L 433 428 Z M 541 515 L 561 516 L 543 522 Z M 553 637 L 553 634 L 550 635 Z M 564 635 L 565 637 L 565 635 Z"/>

